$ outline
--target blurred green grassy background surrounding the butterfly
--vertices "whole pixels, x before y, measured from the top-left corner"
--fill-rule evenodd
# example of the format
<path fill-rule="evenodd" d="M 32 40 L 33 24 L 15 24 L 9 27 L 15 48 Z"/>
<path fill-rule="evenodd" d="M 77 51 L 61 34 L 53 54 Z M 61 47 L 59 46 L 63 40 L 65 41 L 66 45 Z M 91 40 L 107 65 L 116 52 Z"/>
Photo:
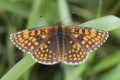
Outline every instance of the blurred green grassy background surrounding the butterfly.
<path fill-rule="evenodd" d="M 70 15 L 74 10 L 77 11 Z M 108 15 L 114 17 L 104 25 L 108 17 L 101 17 Z M 0 0 L 1 80 L 120 80 L 119 17 L 120 0 Z M 103 23 L 94 20 L 88 27 L 97 25 L 96 28 L 109 31 L 110 36 L 79 65 L 36 63 L 29 54 L 13 46 L 9 37 L 27 28 L 55 26 L 57 20 L 65 19 L 64 25 L 79 25 L 99 18 Z"/>

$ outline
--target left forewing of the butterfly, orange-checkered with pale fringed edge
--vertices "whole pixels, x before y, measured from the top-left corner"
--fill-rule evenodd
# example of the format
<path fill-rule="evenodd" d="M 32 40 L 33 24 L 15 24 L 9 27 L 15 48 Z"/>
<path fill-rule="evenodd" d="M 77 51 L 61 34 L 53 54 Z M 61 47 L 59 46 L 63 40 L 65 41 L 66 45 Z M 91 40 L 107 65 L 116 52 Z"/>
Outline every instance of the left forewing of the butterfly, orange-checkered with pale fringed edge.
<path fill-rule="evenodd" d="M 24 52 L 33 53 L 44 39 L 49 38 L 54 27 L 33 28 L 11 34 L 13 43 Z"/>

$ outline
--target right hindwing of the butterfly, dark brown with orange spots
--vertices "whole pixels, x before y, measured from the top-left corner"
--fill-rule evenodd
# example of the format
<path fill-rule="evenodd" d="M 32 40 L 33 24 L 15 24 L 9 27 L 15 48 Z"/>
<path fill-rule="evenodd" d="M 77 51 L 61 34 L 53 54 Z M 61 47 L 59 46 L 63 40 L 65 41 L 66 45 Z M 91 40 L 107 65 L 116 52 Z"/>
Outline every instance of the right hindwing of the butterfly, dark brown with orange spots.
<path fill-rule="evenodd" d="M 65 35 L 64 44 L 64 63 L 75 65 L 85 61 L 85 59 L 87 58 L 87 52 L 77 41 L 72 39 L 70 36 Z"/>

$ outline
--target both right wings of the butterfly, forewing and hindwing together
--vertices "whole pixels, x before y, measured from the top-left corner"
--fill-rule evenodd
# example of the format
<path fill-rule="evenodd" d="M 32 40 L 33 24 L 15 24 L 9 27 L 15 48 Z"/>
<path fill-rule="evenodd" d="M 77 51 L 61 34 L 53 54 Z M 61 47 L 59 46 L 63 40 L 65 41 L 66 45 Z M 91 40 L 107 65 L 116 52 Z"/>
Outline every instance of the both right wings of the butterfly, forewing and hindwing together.
<path fill-rule="evenodd" d="M 65 62 L 68 64 L 78 64 L 83 62 L 86 59 L 87 53 L 97 49 L 103 42 L 106 41 L 108 36 L 108 32 L 99 29 L 66 26 L 64 37 L 66 40 L 65 45 L 70 46 L 65 47 Z"/>

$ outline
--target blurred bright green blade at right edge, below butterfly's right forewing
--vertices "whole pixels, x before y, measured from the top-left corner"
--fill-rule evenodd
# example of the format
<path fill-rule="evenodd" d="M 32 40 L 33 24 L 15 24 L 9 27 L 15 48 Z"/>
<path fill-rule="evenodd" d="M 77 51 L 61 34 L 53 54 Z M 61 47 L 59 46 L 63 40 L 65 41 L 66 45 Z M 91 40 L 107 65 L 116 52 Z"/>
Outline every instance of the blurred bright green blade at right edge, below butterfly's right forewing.
<path fill-rule="evenodd" d="M 102 61 L 98 62 L 98 64 L 96 64 L 93 67 L 92 71 L 94 74 L 96 74 L 100 71 L 103 71 L 105 69 L 112 67 L 113 65 L 115 65 L 117 63 L 120 63 L 120 51 L 117 51 L 117 52 L 111 54 L 110 56 L 106 57 Z"/>

